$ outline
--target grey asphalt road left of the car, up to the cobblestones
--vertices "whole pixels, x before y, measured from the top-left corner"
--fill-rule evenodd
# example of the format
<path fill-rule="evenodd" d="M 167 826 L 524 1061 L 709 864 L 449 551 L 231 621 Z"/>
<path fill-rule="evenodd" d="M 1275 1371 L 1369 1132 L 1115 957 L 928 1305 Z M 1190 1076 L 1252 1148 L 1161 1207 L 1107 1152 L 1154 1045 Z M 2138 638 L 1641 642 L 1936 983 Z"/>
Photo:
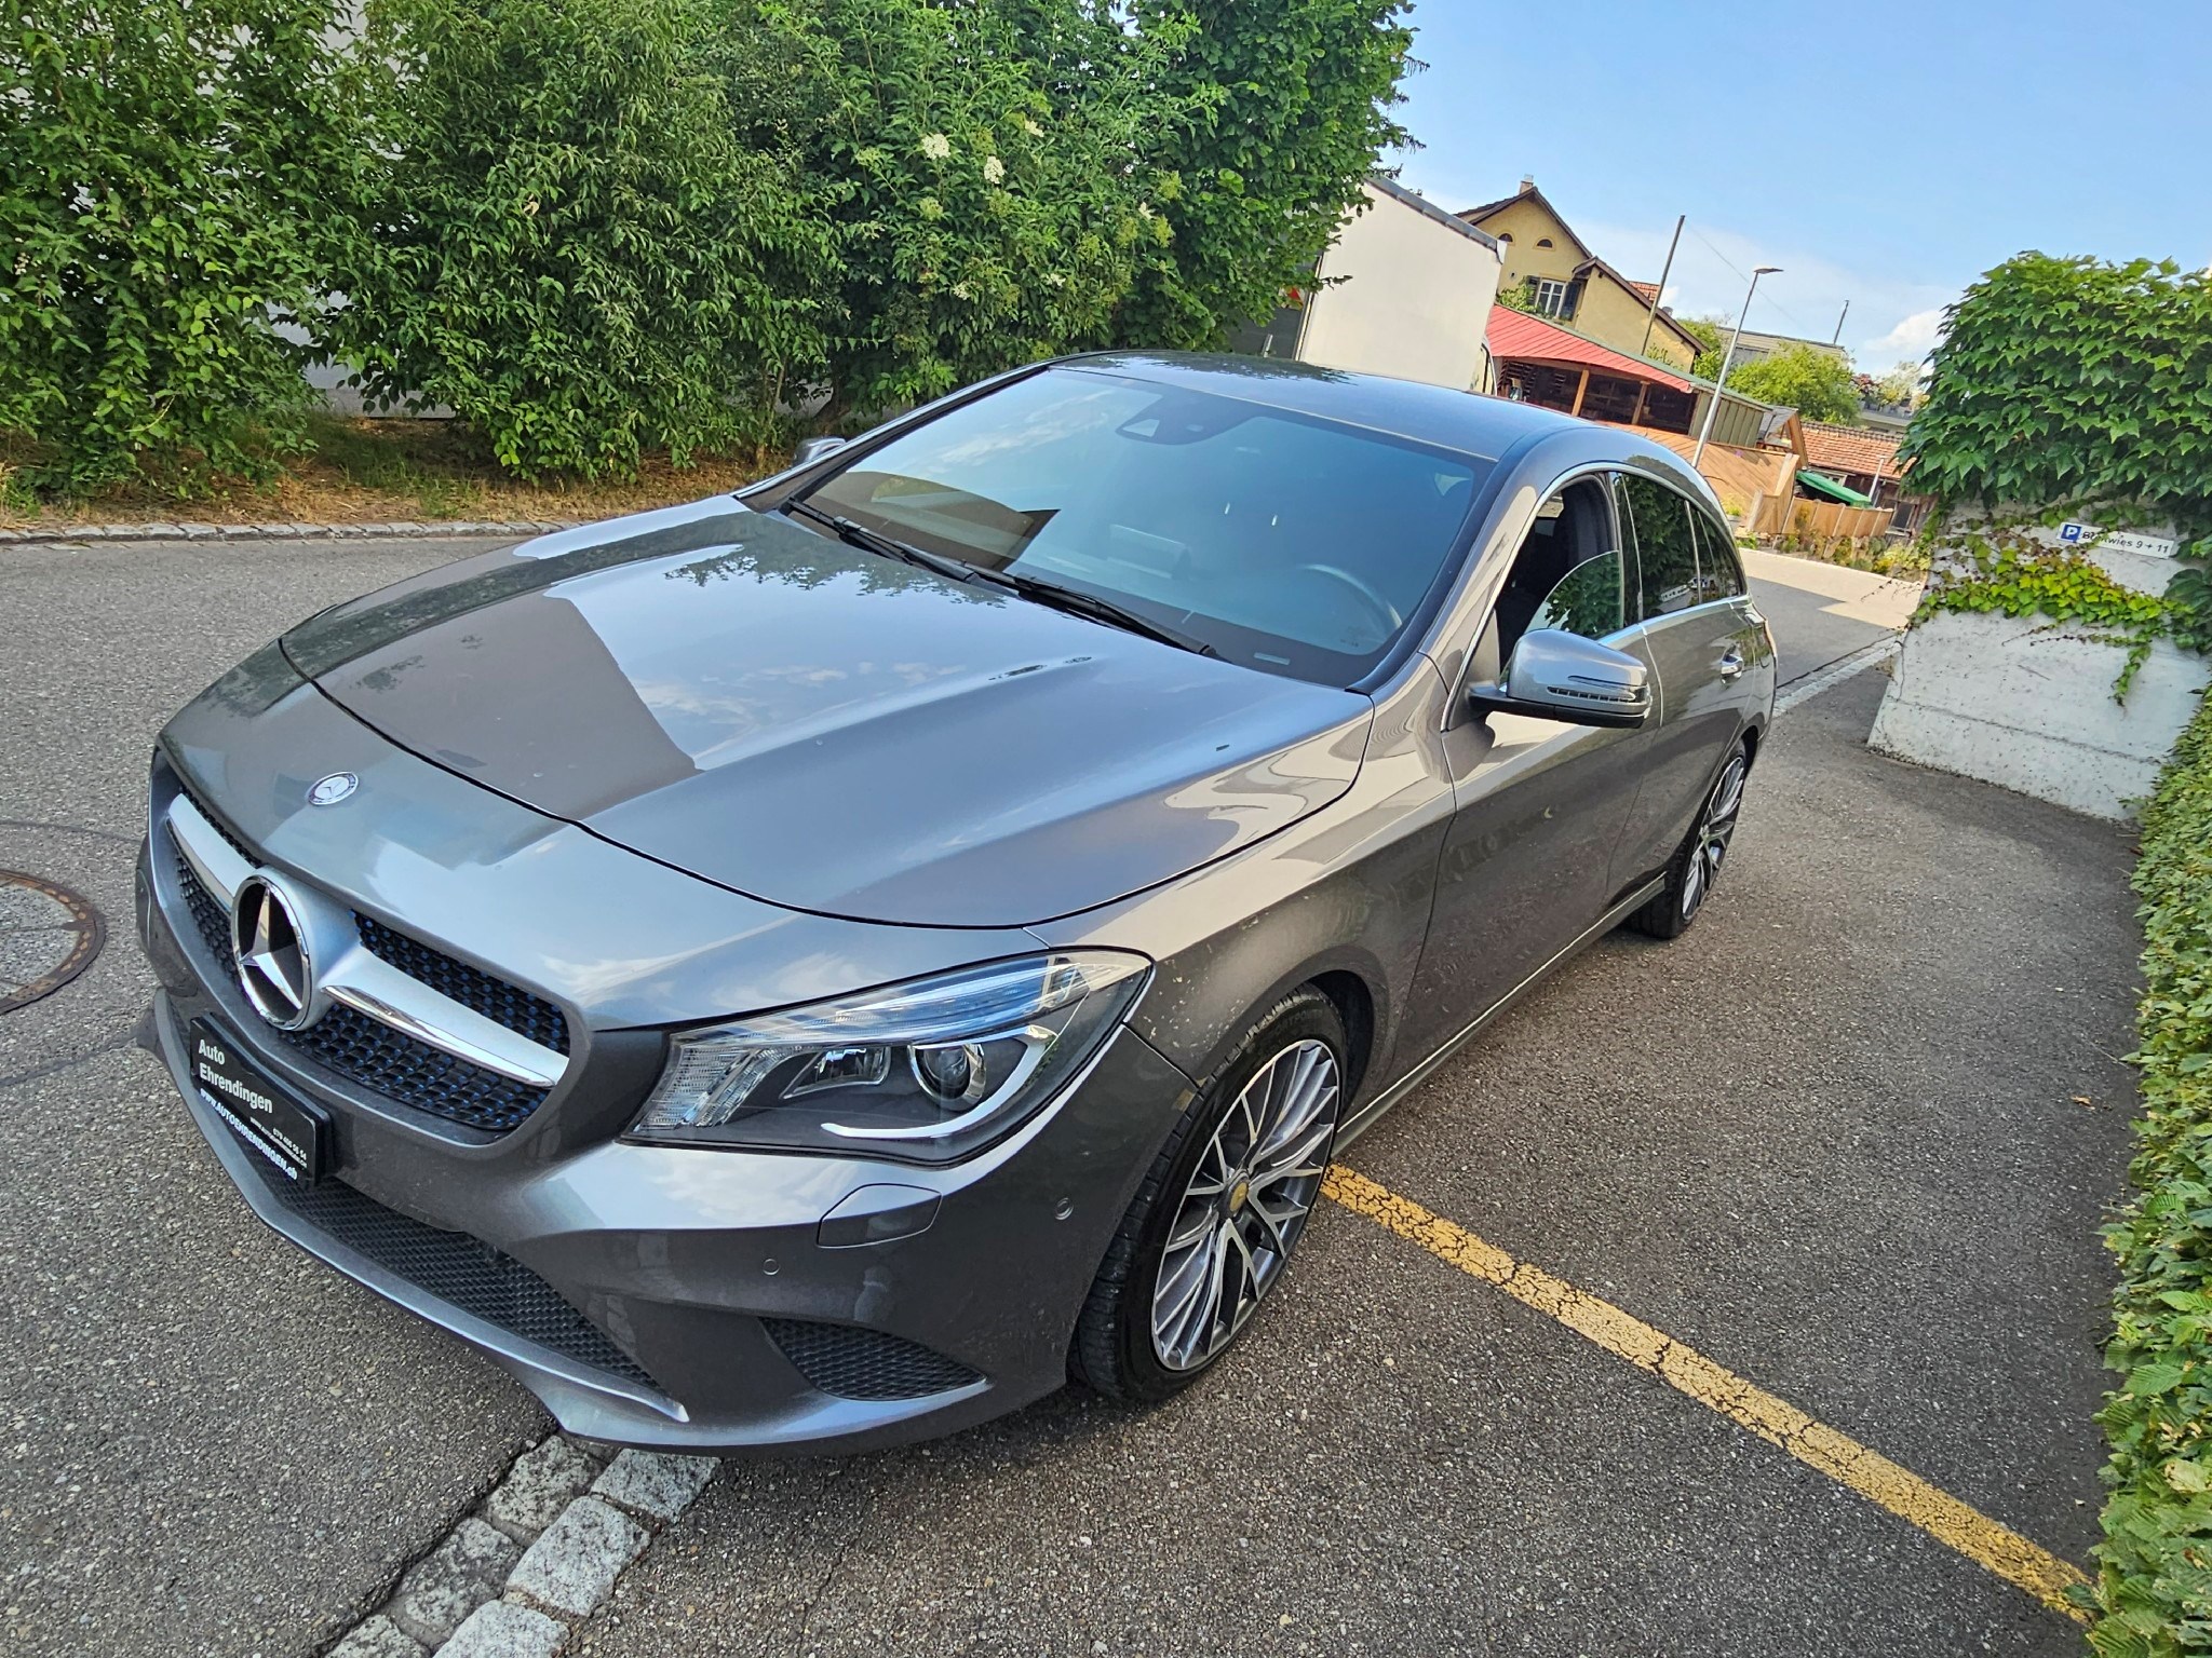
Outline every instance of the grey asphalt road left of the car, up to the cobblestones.
<path fill-rule="evenodd" d="M 544 1430 L 281 1245 L 128 1046 L 146 756 L 221 668 L 462 542 L 0 550 L 0 867 L 108 946 L 0 1019 L 0 1651 L 307 1651 Z"/>

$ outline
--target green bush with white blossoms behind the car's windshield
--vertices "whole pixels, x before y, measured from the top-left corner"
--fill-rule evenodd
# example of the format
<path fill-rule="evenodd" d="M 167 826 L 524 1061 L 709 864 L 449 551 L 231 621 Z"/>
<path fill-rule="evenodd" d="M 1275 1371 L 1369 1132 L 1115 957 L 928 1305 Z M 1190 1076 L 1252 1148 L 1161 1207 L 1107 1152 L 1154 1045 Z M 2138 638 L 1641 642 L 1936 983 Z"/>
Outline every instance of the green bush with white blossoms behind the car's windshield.
<path fill-rule="evenodd" d="M 772 40 L 805 88 L 754 77 L 732 102 L 750 141 L 770 115 L 792 135 L 834 239 L 825 424 L 1106 345 L 1170 265 L 1175 181 L 1144 146 L 1175 119 L 1179 31 L 1082 0 L 723 0 L 721 29 Z"/>

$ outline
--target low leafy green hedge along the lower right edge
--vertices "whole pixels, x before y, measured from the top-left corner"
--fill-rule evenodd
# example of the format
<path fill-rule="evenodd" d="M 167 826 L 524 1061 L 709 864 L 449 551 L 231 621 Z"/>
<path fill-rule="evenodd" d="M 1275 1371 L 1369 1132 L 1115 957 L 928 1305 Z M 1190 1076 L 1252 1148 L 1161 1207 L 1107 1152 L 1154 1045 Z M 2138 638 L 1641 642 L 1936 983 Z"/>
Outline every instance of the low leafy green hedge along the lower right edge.
<path fill-rule="evenodd" d="M 2104 1658 L 2212 1651 L 2212 705 L 2143 809 L 2135 1200 L 2106 1362 L 2112 1455 L 2090 1647 Z"/>

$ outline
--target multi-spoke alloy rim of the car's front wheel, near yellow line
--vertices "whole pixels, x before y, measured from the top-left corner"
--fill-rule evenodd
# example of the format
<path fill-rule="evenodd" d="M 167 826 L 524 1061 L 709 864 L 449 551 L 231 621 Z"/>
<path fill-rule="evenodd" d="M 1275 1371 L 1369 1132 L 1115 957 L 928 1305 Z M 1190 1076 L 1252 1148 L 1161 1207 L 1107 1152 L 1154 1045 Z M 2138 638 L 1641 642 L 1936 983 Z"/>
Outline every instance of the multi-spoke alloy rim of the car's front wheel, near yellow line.
<path fill-rule="evenodd" d="M 1336 1052 L 1294 1041 L 1254 1072 L 1175 1209 L 1152 1289 L 1152 1353 L 1194 1371 L 1274 1287 L 1321 1196 L 1340 1101 Z"/>

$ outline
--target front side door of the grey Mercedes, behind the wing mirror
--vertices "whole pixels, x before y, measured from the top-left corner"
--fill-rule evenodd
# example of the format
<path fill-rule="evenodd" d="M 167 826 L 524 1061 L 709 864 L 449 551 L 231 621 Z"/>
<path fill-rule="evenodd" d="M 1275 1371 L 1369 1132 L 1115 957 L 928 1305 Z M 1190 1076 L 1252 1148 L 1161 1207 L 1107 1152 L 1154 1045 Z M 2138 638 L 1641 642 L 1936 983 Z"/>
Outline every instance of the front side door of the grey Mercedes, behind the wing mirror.
<path fill-rule="evenodd" d="M 1562 628 L 1644 657 L 1604 473 L 1559 484 L 1537 508 L 1469 654 L 1467 681 L 1498 679 L 1513 643 Z M 1409 1052 L 1429 1052 L 1573 944 L 1613 902 L 1613 856 L 1637 794 L 1644 732 L 1533 714 L 1449 712 L 1453 818 L 1413 993 Z"/>

